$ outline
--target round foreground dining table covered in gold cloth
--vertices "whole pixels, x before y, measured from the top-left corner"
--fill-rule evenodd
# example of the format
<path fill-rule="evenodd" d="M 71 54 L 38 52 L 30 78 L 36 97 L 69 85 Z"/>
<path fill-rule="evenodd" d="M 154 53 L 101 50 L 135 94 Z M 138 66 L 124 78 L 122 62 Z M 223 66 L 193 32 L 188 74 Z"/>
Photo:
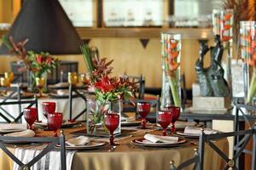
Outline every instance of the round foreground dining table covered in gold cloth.
<path fill-rule="evenodd" d="M 74 127 L 62 128 L 66 139 L 76 136 L 86 136 L 86 126 L 84 122 Z M 169 132 L 169 131 L 168 131 Z M 52 131 L 45 131 L 38 127 L 35 128 L 36 136 L 44 138 L 52 136 Z M 122 127 L 119 136 L 115 137 L 115 142 L 119 145 L 113 148 L 108 144 L 108 137 L 91 137 L 93 140 L 106 142 L 102 147 L 96 150 L 75 150 L 71 169 L 104 169 L 104 170 L 168 170 L 170 161 L 174 161 L 175 165 L 179 165 L 183 161 L 189 160 L 195 154 L 195 148 L 198 148 L 198 139 L 185 139 L 183 144 L 176 144 L 168 147 L 152 147 L 135 143 L 135 139 L 142 139 L 146 133 L 160 135 L 161 129 L 151 124 L 148 129 L 139 129 L 138 127 Z M 170 132 L 167 135 L 171 135 Z M 177 134 L 176 134 L 177 136 Z M 183 137 L 178 136 L 183 139 Z M 224 153 L 229 152 L 229 144 L 227 139 L 218 139 L 213 141 Z M 44 144 L 46 145 L 46 144 Z M 33 148 L 33 144 L 28 144 L 29 149 Z M 16 148 L 26 149 L 27 144 L 8 144 L 9 150 L 14 153 Z M 38 145 L 34 146 L 35 148 Z M 224 161 L 218 156 L 214 150 L 206 144 L 205 146 L 205 163 L 204 169 L 219 170 L 225 166 Z M 55 150 L 58 150 L 56 148 Z M 67 150 L 72 151 L 72 150 Z M 73 150 L 74 151 L 74 150 Z M 214 163 L 212 161 L 214 160 Z M 0 150 L 0 169 L 13 169 L 14 162 Z M 191 169 L 188 167 L 187 169 Z"/>

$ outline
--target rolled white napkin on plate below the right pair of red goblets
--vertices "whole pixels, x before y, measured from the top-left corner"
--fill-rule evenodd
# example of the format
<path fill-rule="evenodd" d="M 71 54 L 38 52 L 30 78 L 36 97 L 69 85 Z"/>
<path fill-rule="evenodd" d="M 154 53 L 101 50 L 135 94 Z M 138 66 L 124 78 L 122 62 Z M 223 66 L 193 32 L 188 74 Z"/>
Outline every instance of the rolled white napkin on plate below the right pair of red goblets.
<path fill-rule="evenodd" d="M 144 139 L 147 139 L 153 143 L 176 143 L 178 141 L 178 137 L 174 136 L 159 136 L 147 133 L 144 135 Z"/>

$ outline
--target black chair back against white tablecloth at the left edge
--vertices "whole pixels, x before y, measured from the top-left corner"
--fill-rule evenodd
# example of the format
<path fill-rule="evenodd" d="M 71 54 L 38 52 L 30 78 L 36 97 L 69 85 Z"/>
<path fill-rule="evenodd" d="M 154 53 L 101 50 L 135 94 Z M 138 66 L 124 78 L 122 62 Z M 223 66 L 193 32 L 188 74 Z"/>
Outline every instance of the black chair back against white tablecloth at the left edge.
<path fill-rule="evenodd" d="M 14 94 L 15 91 L 11 94 Z M 9 96 L 11 96 L 11 94 Z M 6 121 L 6 122 L 21 122 L 21 117 L 23 116 L 23 111 L 21 111 L 21 105 L 27 105 L 27 107 L 32 107 L 32 105 L 35 105 L 36 108 L 38 108 L 38 99 L 35 96 L 34 99 L 20 99 L 20 92 L 18 92 L 18 99 L 11 101 L 8 101 L 8 98 L 3 99 L 0 102 L 0 116 Z M 19 113 L 18 116 L 13 116 L 13 113 L 10 113 L 9 111 L 6 111 L 6 109 L 3 108 L 4 105 L 18 105 Z M 11 120 L 12 119 L 12 120 Z"/>

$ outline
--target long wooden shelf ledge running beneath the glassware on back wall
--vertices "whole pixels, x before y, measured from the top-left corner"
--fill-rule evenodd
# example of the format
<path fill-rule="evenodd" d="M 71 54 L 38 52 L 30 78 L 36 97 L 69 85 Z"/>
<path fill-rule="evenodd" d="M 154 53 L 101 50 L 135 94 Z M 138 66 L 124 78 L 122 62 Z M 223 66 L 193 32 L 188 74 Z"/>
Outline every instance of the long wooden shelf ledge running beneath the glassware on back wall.
<path fill-rule="evenodd" d="M 210 39 L 211 28 L 76 28 L 82 39 L 93 37 L 160 38 L 160 32 L 181 33 L 183 39 Z M 7 31 L 0 31 L 0 37 Z"/>

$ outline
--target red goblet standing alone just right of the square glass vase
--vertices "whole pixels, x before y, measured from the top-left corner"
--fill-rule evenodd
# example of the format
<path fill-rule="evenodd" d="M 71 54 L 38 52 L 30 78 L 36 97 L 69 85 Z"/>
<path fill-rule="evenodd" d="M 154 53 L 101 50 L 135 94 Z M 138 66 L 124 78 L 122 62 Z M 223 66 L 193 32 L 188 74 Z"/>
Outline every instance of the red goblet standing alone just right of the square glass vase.
<path fill-rule="evenodd" d="M 146 128 L 146 117 L 148 116 L 148 113 L 150 112 L 150 103 L 149 102 L 138 102 L 137 103 L 137 113 L 140 114 L 140 116 L 143 118 L 142 121 L 142 129 Z"/>

